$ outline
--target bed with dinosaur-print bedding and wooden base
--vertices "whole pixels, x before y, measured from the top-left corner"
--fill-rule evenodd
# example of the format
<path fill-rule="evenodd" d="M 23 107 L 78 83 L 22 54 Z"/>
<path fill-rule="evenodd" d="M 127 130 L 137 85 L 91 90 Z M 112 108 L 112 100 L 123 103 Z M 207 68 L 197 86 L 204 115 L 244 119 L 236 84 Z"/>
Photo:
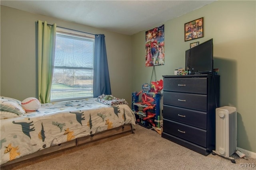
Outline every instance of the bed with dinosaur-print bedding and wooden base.
<path fill-rule="evenodd" d="M 36 111 L 18 114 L 10 108 L 4 110 L 6 107 L 2 104 L 16 103 L 12 107 L 19 107 L 20 101 L 1 97 L 1 169 L 99 139 L 107 141 L 112 135 L 131 134 L 135 126 L 133 111 L 127 103 L 112 101 L 91 98 L 54 102 L 40 104 Z"/>

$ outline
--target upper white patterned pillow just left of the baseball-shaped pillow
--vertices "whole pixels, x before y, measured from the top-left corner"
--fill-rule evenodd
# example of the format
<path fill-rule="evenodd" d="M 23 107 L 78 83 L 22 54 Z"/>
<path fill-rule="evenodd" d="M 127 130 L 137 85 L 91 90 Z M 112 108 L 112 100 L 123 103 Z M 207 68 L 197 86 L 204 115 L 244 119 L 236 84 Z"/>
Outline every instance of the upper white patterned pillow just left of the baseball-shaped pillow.
<path fill-rule="evenodd" d="M 26 111 L 19 105 L 19 100 L 2 97 L 0 98 L 0 109 L 2 111 L 10 111 L 17 115 L 25 115 Z"/>

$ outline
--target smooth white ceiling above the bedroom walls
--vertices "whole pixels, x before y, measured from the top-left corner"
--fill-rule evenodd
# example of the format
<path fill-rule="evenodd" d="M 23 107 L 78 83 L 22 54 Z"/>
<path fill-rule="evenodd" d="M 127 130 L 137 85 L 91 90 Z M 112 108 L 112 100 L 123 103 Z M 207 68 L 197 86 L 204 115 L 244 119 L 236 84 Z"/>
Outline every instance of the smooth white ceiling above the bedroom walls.
<path fill-rule="evenodd" d="M 133 35 L 212 2 L 214 0 L 1 0 L 0 4 Z"/>

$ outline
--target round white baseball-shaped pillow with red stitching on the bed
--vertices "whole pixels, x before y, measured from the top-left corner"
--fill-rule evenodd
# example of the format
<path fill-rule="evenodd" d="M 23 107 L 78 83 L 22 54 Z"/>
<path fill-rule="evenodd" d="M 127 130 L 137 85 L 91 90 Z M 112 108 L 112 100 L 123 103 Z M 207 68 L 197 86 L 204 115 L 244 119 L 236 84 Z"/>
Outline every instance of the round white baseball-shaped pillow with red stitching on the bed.
<path fill-rule="evenodd" d="M 21 102 L 21 106 L 26 112 L 31 112 L 40 109 L 41 103 L 37 98 L 26 98 Z"/>

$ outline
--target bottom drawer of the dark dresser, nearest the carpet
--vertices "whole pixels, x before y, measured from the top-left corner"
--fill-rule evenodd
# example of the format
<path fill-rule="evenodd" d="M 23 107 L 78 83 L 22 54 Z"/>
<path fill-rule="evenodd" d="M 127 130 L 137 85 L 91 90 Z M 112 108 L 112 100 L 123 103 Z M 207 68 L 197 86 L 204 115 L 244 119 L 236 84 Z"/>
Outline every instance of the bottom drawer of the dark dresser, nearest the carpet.
<path fill-rule="evenodd" d="M 163 119 L 163 125 L 163 132 L 174 135 L 186 141 L 190 141 L 202 147 L 206 147 L 205 130 L 170 121 L 167 119 Z"/>

